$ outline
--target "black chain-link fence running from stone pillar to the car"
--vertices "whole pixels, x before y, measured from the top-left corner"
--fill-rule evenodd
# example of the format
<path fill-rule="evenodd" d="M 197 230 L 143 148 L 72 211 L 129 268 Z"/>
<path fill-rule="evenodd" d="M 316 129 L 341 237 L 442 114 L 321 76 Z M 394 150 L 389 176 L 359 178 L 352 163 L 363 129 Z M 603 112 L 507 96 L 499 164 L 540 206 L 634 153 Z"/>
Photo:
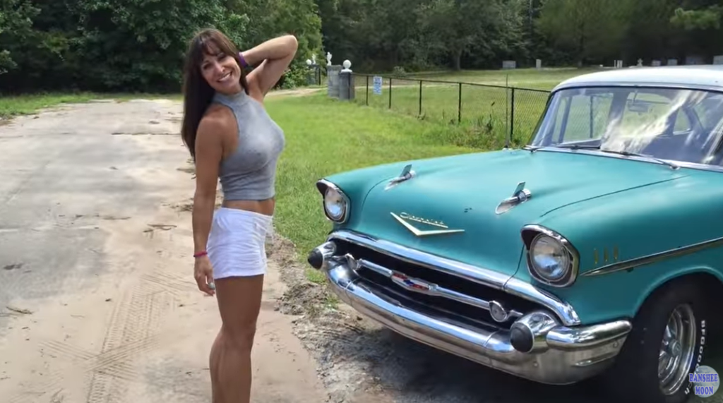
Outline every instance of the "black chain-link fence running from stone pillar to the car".
<path fill-rule="evenodd" d="M 549 91 L 472 82 L 409 79 L 354 73 L 354 102 L 466 126 L 510 145 L 528 142 Z"/>

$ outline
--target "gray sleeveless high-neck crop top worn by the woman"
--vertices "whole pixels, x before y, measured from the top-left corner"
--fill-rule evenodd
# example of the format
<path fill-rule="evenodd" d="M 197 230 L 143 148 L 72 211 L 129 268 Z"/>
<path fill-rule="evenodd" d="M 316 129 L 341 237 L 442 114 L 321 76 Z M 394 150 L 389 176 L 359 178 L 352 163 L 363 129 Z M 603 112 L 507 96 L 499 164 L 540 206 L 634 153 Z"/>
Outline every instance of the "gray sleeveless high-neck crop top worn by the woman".
<path fill-rule="evenodd" d="M 276 162 L 285 139 L 265 108 L 241 91 L 216 92 L 213 102 L 231 108 L 239 128 L 239 147 L 221 161 L 218 178 L 225 200 L 265 200 L 275 196 Z"/>

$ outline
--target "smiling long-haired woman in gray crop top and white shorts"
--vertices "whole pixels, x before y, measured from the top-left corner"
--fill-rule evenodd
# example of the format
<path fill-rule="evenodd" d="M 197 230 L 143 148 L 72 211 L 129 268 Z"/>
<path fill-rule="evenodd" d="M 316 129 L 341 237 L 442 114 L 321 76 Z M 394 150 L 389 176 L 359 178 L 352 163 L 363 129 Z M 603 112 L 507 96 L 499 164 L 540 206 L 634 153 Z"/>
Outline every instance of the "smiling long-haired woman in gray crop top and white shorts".
<path fill-rule="evenodd" d="M 285 35 L 239 52 L 218 30 L 199 32 L 184 71 L 181 136 L 196 165 L 194 277 L 216 295 L 222 326 L 210 352 L 214 403 L 248 403 L 251 348 L 285 141 L 263 100 L 296 54 Z M 258 66 L 248 75 L 245 66 Z M 221 180 L 223 204 L 214 212 Z"/>

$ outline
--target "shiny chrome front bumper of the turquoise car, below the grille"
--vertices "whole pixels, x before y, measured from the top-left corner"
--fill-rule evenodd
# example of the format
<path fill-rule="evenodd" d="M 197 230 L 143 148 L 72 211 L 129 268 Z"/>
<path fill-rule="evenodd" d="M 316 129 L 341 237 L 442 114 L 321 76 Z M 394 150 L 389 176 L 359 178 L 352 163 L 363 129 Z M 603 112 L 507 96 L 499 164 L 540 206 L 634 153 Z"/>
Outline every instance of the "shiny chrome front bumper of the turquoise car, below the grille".
<path fill-rule="evenodd" d="M 528 329 L 534 342 L 527 352 L 513 347 L 515 330 L 473 328 L 442 316 L 422 313 L 390 298 L 350 267 L 343 256 L 325 259 L 322 267 L 343 302 L 403 336 L 439 350 L 543 384 L 573 384 L 612 364 L 630 332 L 630 321 L 592 326 L 563 326 L 545 311 L 529 313 L 511 329 Z M 519 347 L 519 343 L 517 343 Z"/>

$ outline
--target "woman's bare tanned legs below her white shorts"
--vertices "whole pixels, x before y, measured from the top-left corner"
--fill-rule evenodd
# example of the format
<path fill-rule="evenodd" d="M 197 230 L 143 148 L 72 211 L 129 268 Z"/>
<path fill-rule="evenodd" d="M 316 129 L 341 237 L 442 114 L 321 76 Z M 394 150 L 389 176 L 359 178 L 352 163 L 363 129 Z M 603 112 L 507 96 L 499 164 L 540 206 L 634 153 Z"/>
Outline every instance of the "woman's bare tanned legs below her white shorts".
<path fill-rule="evenodd" d="M 223 324 L 210 353 L 213 403 L 249 403 L 251 348 L 263 282 L 263 275 L 215 280 Z"/>

